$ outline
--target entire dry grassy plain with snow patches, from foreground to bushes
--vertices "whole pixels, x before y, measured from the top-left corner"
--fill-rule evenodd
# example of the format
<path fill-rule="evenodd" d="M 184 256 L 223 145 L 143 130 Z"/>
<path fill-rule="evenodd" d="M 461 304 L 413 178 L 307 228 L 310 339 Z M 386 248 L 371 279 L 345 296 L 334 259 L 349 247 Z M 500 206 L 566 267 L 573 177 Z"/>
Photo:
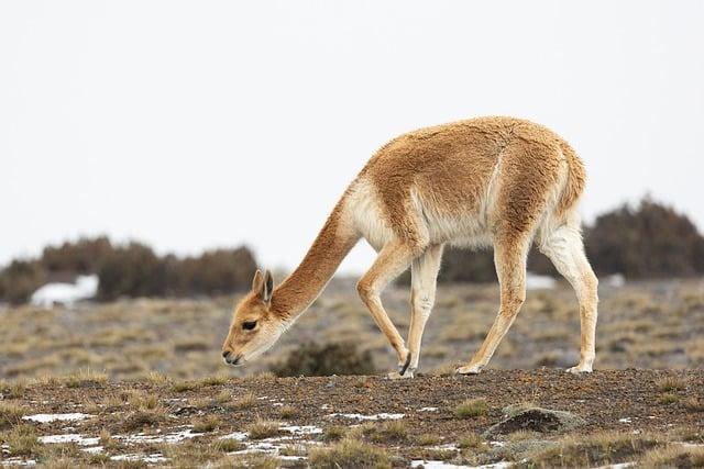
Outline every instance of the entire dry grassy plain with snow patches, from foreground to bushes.
<path fill-rule="evenodd" d="M 352 340 L 371 351 L 380 375 L 394 368 L 353 281 L 333 282 L 273 350 L 239 369 L 220 361 L 237 298 L 4 308 L 0 461 L 704 466 L 704 281 L 604 286 L 600 295 L 594 373 L 561 369 L 578 359 L 579 315 L 572 291 L 560 286 L 528 292 L 490 369 L 453 377 L 488 330 L 498 292 L 493 284 L 440 287 L 421 375 L 403 381 L 266 372 L 306 342 Z M 407 298 L 403 288 L 385 295 L 404 333 Z M 530 414 L 510 432 L 488 434 L 510 405 L 565 411 L 583 422 L 562 428 Z"/>

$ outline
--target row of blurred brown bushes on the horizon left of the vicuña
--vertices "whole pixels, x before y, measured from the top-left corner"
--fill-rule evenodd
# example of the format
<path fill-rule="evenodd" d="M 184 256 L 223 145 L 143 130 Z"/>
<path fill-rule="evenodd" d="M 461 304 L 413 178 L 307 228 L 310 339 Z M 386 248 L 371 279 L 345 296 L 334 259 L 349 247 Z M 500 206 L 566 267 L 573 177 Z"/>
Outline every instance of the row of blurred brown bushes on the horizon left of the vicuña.
<path fill-rule="evenodd" d="M 224 294 L 249 288 L 256 270 L 246 247 L 216 249 L 198 257 L 157 256 L 132 242 L 116 246 L 105 237 L 47 246 L 38 259 L 15 260 L 0 270 L 0 300 L 28 301 L 47 281 L 73 281 L 78 275 L 99 277 L 98 298 L 190 297 Z"/>

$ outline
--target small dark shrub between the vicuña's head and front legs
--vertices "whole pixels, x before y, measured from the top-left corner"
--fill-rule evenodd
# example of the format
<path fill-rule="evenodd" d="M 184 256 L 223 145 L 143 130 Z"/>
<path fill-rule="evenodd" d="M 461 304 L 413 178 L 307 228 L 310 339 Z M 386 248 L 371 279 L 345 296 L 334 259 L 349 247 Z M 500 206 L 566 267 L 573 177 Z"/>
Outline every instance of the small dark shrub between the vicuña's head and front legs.
<path fill-rule="evenodd" d="M 284 362 L 272 366 L 279 377 L 290 376 L 330 376 L 330 375 L 374 375 L 374 360 L 366 350 L 360 353 L 356 344 L 301 345 L 288 355 Z"/>

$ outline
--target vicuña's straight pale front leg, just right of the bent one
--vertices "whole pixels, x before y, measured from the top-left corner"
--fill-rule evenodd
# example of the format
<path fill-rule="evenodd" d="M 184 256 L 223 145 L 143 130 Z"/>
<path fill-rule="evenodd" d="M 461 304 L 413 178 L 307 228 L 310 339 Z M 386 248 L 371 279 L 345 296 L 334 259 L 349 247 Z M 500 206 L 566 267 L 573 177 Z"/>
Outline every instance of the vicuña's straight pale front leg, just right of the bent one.
<path fill-rule="evenodd" d="M 436 301 L 436 281 L 441 259 L 442 245 L 435 245 L 414 259 L 410 266 L 410 328 L 408 331 L 410 365 L 407 370 L 402 370 L 405 372 L 400 373 L 409 375 L 409 378 L 418 368 L 422 332 Z"/>

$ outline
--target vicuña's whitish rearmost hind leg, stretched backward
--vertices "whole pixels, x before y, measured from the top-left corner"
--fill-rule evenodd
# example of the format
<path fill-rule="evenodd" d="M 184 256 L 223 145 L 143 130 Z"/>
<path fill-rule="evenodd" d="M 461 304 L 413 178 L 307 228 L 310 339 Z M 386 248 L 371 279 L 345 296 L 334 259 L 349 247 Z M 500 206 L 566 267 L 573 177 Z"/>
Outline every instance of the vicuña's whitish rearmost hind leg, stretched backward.
<path fill-rule="evenodd" d="M 572 373 L 591 372 L 594 364 L 596 335 L 596 303 L 598 280 L 584 255 L 579 222 L 562 225 L 552 232 L 540 250 L 550 258 L 558 271 L 570 282 L 580 303 L 580 362 L 568 369 Z"/>

